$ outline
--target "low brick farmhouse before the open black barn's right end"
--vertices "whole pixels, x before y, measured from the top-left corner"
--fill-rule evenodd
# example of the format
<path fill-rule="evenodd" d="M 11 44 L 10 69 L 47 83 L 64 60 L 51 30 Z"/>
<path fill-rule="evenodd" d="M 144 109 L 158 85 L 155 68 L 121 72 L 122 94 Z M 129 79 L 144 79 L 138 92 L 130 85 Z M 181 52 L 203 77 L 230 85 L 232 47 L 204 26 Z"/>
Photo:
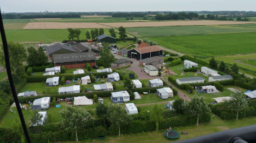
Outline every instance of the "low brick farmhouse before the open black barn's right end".
<path fill-rule="evenodd" d="M 156 68 L 161 67 L 161 65 L 164 63 L 164 58 L 155 56 L 151 58 L 145 58 L 142 60 L 139 60 L 139 65 L 140 66 L 145 66 L 145 65 L 153 65 Z"/>

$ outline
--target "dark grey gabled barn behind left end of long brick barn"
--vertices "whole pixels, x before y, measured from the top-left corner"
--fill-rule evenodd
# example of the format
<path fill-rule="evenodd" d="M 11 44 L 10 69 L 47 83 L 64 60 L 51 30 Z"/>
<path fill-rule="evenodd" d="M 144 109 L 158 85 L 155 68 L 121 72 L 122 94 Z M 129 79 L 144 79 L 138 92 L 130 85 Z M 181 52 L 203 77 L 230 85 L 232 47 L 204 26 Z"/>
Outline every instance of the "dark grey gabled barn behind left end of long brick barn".
<path fill-rule="evenodd" d="M 50 60 L 53 59 L 54 54 L 61 54 L 61 53 L 77 53 L 77 52 L 72 47 L 63 45 L 60 43 L 46 47 L 46 55 L 49 57 Z"/>

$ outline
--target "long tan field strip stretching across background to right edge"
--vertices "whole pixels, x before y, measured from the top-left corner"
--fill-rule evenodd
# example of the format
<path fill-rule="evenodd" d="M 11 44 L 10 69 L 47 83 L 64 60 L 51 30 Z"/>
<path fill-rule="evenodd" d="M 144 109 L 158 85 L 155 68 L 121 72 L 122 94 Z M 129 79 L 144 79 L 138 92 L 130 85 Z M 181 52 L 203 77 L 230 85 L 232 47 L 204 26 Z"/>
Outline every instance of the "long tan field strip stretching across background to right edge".
<path fill-rule="evenodd" d="M 129 22 L 129 23 L 65 23 L 65 22 L 30 22 L 23 29 L 67 29 L 67 28 L 111 28 L 150 27 L 150 26 L 182 26 L 182 25 L 232 25 L 256 22 L 231 21 L 171 21 L 171 22 Z"/>

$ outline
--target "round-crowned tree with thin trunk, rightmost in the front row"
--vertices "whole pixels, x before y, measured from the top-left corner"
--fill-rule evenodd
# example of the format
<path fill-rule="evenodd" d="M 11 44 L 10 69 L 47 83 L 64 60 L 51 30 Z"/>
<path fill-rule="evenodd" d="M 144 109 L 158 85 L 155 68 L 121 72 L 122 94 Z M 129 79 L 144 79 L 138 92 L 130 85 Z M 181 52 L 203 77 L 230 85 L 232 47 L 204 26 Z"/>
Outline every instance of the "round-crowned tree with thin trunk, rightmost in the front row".
<path fill-rule="evenodd" d="M 246 96 L 243 93 L 233 93 L 231 99 L 225 100 L 226 105 L 236 111 L 236 120 L 238 120 L 238 112 L 245 110 L 248 107 Z"/>

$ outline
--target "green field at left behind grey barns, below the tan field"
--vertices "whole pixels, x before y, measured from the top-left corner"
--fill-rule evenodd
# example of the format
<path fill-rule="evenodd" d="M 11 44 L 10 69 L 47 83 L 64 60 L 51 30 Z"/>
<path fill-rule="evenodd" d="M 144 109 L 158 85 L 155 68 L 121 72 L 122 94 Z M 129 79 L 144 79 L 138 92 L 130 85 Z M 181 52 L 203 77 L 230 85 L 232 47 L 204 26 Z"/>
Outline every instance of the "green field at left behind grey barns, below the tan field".
<path fill-rule="evenodd" d="M 85 32 L 91 29 L 80 29 L 80 39 L 86 39 Z M 104 33 L 110 35 L 108 29 L 104 29 Z M 68 39 L 67 29 L 45 29 L 45 30 L 5 30 L 8 41 L 13 42 L 62 42 Z M 117 36 L 119 36 L 117 34 Z M 2 40 L 0 40 L 2 42 Z"/>

